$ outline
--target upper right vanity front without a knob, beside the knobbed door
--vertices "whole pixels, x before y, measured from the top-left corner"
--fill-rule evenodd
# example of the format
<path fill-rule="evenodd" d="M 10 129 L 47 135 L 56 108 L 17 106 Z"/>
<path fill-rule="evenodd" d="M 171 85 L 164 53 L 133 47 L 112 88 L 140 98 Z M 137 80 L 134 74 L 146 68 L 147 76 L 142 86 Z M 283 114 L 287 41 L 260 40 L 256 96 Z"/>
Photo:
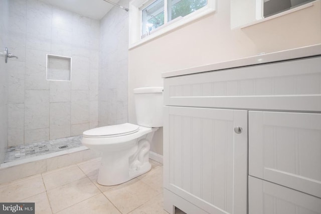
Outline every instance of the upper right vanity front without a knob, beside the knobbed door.
<path fill-rule="evenodd" d="M 321 197 L 321 114 L 249 111 L 249 174 Z"/>

